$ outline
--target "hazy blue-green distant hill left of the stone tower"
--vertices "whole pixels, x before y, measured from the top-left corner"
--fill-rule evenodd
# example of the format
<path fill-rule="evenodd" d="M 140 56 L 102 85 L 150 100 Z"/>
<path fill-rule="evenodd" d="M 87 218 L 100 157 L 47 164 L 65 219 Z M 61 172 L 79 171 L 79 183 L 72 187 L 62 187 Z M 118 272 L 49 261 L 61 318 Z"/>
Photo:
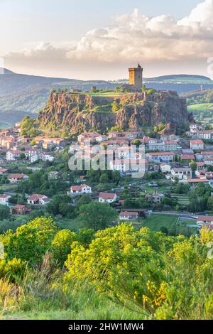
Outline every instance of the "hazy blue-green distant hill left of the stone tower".
<path fill-rule="evenodd" d="M 23 75 L 0 69 L 0 122 L 4 114 L 10 124 L 18 122 L 23 113 L 38 113 L 46 104 L 51 90 L 57 88 L 75 88 L 90 90 L 92 85 L 98 89 L 114 88 L 116 85 L 104 80 L 83 81 L 58 77 L 40 77 Z M 16 117 L 14 117 L 16 114 Z M 35 115 L 36 116 L 36 115 Z"/>

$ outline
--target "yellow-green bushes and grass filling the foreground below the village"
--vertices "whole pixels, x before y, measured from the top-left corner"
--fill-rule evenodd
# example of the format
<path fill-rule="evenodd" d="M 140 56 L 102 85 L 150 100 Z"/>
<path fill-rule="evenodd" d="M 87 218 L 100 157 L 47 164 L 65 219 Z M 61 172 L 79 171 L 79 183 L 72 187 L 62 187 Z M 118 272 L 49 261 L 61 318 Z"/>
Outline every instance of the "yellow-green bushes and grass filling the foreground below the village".
<path fill-rule="evenodd" d="M 0 241 L 1 318 L 213 318 L 207 228 L 190 238 L 125 223 L 75 233 L 40 217 Z"/>

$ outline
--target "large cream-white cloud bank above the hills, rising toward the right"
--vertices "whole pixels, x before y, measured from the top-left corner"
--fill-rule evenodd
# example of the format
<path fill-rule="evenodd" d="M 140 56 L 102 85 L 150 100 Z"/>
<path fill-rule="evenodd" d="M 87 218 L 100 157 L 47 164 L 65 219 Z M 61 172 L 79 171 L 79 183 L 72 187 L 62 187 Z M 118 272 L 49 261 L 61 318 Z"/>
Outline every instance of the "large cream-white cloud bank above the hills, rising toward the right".
<path fill-rule="evenodd" d="M 114 18 L 114 25 L 88 31 L 77 43 L 40 43 L 19 53 L 6 55 L 6 63 L 43 66 L 50 64 L 69 70 L 114 68 L 159 62 L 206 65 L 213 55 L 213 0 L 205 0 L 185 18 L 168 15 L 148 17 L 135 9 Z M 74 71 L 75 72 L 75 71 Z"/>

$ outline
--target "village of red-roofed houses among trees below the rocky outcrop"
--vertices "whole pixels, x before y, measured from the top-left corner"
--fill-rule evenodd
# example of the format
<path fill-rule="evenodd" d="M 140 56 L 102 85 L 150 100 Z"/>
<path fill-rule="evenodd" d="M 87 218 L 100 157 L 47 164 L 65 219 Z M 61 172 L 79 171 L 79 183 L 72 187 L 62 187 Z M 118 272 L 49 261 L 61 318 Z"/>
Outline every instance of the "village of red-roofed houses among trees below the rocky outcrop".
<path fill-rule="evenodd" d="M 5 217 L 2 213 L 1 220 L 10 217 L 20 222 L 23 218 L 23 223 L 28 217 L 50 214 L 65 226 L 73 218 L 75 230 L 76 208 L 81 201 L 94 201 L 111 205 L 118 223 L 151 224 L 154 230 L 178 228 L 189 234 L 203 225 L 213 229 L 212 141 L 213 130 L 195 123 L 181 136 L 147 136 L 142 130 L 108 134 L 91 131 L 75 140 L 27 138 L 21 135 L 21 123 L 16 123 L 0 133 L 0 205 L 10 211 Z M 139 147 L 143 147 L 143 153 Z M 81 157 L 84 164 L 87 159 L 104 156 L 108 168 L 70 171 L 68 161 L 72 156 Z M 143 166 L 144 176 L 137 177 L 139 166 Z M 43 184 L 36 181 L 41 173 L 45 175 Z M 57 206 L 57 196 L 60 207 L 66 204 L 64 212 L 51 210 L 51 205 Z"/>

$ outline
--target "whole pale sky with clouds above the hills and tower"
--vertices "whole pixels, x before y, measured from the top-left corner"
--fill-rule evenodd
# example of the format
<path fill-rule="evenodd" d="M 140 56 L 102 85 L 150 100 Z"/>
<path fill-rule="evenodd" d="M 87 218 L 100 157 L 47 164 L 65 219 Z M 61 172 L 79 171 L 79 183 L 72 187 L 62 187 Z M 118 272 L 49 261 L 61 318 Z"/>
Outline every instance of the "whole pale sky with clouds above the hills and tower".
<path fill-rule="evenodd" d="M 14 72 L 117 80 L 141 63 L 145 77 L 213 77 L 213 0 L 0 0 L 0 29 Z"/>

